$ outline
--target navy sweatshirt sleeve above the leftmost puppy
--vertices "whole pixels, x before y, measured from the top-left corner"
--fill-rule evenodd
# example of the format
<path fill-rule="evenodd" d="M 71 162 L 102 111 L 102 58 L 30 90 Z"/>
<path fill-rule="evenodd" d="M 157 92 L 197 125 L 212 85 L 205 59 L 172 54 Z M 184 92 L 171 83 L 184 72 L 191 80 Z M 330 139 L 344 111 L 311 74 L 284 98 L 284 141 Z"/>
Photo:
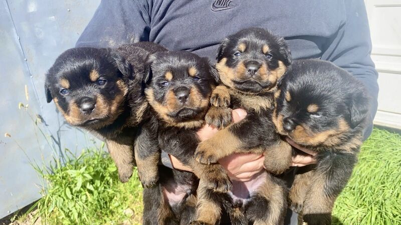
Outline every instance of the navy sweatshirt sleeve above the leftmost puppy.
<path fill-rule="evenodd" d="M 150 30 L 146 0 L 102 0 L 76 47 L 116 47 L 147 41 Z"/>

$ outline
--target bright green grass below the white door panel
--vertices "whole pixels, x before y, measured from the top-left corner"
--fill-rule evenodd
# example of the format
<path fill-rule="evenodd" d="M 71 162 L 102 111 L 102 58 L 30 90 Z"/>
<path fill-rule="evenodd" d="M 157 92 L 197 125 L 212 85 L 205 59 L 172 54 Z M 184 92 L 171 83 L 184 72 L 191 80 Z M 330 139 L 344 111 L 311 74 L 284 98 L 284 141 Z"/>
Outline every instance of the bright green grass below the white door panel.
<path fill-rule="evenodd" d="M 342 224 L 401 224 L 401 136 L 375 128 L 333 216 Z M 341 224 L 340 222 L 336 224 Z"/>

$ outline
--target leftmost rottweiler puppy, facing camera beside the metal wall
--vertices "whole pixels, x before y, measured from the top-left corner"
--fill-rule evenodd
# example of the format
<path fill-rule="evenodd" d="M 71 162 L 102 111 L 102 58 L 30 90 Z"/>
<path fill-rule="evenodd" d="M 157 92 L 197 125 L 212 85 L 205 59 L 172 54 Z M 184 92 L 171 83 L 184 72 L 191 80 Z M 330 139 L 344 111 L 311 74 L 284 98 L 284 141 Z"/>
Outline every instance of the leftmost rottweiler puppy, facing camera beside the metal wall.
<path fill-rule="evenodd" d="M 139 127 L 147 119 L 149 110 L 143 93 L 145 61 L 148 54 L 165 50 L 151 42 L 122 45 L 117 49 L 71 48 L 56 59 L 46 74 L 47 102 L 54 100 L 71 125 L 104 139 L 122 182 L 132 175 L 135 139 L 149 135 L 146 127 Z M 158 152 L 151 146 L 144 147 Z M 144 186 L 157 181 L 158 160 L 157 155 L 136 159 Z"/>

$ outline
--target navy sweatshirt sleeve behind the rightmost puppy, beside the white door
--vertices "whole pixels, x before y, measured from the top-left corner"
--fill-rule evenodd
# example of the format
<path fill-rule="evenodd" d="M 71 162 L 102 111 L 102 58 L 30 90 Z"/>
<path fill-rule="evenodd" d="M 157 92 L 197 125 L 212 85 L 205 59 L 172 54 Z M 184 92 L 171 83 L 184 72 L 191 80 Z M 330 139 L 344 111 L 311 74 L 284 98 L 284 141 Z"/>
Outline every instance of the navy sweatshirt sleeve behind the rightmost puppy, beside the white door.
<path fill-rule="evenodd" d="M 366 88 L 371 97 L 369 125 L 364 130 L 366 139 L 373 128 L 373 118 L 377 110 L 377 71 L 370 57 L 372 43 L 369 24 L 363 0 L 344 0 L 346 21 L 332 38 L 322 59 L 346 69 Z"/>

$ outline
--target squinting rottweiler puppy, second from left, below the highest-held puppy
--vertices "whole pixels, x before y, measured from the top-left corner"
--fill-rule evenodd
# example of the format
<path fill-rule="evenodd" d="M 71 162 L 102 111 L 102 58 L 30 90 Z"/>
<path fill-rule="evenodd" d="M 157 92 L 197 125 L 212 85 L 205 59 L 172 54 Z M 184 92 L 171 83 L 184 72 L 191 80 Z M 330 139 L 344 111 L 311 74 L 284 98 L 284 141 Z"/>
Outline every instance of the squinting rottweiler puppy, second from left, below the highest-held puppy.
<path fill-rule="evenodd" d="M 159 148 L 191 167 L 193 173 L 200 178 L 201 190 L 211 188 L 228 191 L 232 183 L 220 164 L 206 165 L 194 158 L 196 146 L 200 142 L 196 131 L 205 124 L 204 118 L 209 109 L 210 96 L 216 86 L 216 69 L 209 63 L 208 58 L 183 51 L 156 52 L 149 56 L 148 62 L 145 95 L 151 106 L 150 121 L 154 128 L 152 133 L 157 133 Z M 193 195 L 191 190 L 196 189 L 197 183 L 188 178 L 187 172 L 178 173 L 176 170 L 173 172 L 176 177 L 174 182 L 168 185 L 166 182 L 160 182 L 159 190 L 171 189 L 171 186 L 174 186 L 175 189 L 181 189 L 181 192 L 182 189 L 187 190 L 188 194 L 185 197 Z M 215 207 L 214 202 L 208 201 L 207 197 L 203 197 L 205 192 L 199 191 L 199 188 L 196 194 L 196 219 L 207 221 L 211 213 L 219 208 Z M 186 199 L 176 202 L 178 206 L 170 206 L 181 208 L 184 201 L 186 202 Z M 162 202 L 166 202 L 165 198 L 162 198 Z M 193 204 L 193 200 L 189 202 Z M 168 220 L 165 213 L 158 213 L 158 216 L 157 221 L 153 221 L 152 224 L 164 224 L 162 222 Z M 188 224 L 186 220 L 185 222 Z"/>

